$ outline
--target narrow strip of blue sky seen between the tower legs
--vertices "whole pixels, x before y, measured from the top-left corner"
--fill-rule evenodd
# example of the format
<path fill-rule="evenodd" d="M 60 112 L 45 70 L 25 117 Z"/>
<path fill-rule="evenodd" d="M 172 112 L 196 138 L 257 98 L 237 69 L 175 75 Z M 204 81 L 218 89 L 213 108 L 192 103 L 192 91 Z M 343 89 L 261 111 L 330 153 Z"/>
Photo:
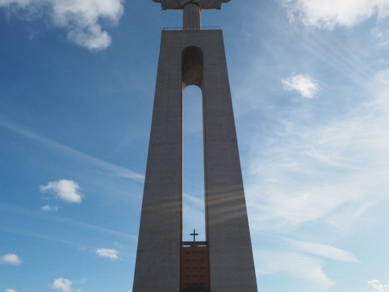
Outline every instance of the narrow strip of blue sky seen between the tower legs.
<path fill-rule="evenodd" d="M 204 203 L 203 96 L 197 86 L 183 94 L 183 241 L 206 241 Z"/>

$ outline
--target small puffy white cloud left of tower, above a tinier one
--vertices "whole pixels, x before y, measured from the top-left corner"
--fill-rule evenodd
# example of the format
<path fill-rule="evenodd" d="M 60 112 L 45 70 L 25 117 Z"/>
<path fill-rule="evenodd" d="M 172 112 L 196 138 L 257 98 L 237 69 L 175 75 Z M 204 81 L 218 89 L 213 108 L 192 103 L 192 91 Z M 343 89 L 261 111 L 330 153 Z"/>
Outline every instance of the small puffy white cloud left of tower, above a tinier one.
<path fill-rule="evenodd" d="M 67 203 L 81 203 L 82 201 L 82 195 L 79 193 L 80 186 L 73 180 L 49 181 L 46 186 L 39 188 L 41 192 L 53 192 L 57 199 Z"/>

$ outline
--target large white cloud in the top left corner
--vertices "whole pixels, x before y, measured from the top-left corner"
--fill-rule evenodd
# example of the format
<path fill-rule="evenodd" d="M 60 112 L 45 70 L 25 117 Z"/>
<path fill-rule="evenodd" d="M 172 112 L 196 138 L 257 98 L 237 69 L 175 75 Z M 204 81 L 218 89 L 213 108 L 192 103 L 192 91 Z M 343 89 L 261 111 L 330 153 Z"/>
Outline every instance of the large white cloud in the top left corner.
<path fill-rule="evenodd" d="M 111 36 L 101 20 L 117 24 L 124 13 L 124 0 L 0 0 L 0 7 L 16 6 L 29 13 L 48 16 L 54 25 L 66 29 L 67 37 L 89 50 L 110 46 Z"/>

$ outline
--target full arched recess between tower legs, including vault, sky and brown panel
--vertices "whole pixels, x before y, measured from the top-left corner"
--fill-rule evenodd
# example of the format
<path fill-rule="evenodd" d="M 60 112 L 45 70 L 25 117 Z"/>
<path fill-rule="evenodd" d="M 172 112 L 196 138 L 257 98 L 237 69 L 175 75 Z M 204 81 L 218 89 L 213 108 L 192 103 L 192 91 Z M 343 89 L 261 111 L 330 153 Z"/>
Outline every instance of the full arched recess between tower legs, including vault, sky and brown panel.
<path fill-rule="evenodd" d="M 203 51 L 182 52 L 183 167 L 180 291 L 209 291 L 209 248 L 205 217 Z M 195 229 L 195 230 L 193 230 Z M 195 238 L 196 236 L 196 242 Z"/>

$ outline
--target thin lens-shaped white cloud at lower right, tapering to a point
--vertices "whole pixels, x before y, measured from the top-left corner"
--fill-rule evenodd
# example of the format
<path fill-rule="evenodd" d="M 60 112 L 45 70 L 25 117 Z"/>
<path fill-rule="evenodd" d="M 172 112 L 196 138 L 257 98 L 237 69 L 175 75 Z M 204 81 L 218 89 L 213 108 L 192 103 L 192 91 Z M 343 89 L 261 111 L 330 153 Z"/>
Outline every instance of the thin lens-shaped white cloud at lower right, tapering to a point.
<path fill-rule="evenodd" d="M 292 239 L 288 239 L 288 242 L 291 243 L 293 246 L 301 249 L 302 251 L 317 254 L 324 258 L 340 262 L 359 263 L 359 260 L 355 257 L 353 253 L 340 248 L 336 248 L 331 245 L 304 242 Z"/>

